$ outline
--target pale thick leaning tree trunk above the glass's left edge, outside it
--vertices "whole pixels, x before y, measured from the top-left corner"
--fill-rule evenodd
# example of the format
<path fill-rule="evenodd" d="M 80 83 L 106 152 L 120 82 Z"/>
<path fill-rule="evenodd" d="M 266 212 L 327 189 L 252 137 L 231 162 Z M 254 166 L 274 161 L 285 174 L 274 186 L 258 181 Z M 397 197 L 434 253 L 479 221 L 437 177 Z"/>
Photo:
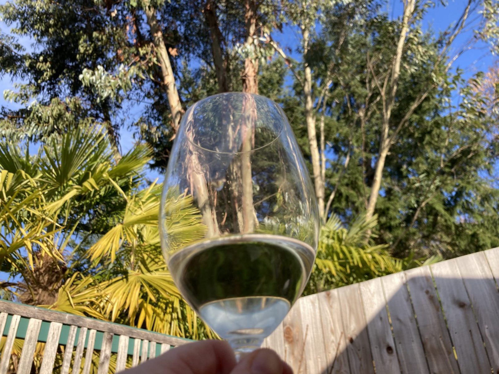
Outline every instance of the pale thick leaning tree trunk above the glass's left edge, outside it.
<path fill-rule="evenodd" d="M 151 29 L 154 46 L 156 48 L 156 55 L 161 65 L 163 85 L 165 87 L 168 103 L 170 105 L 170 111 L 172 113 L 172 127 L 173 130 L 177 132 L 180 126 L 180 120 L 184 114 L 184 109 L 182 109 L 179 93 L 177 91 L 177 85 L 175 84 L 175 77 L 173 75 L 170 57 L 168 56 L 168 51 L 166 50 L 165 41 L 163 39 L 163 31 L 161 30 L 158 19 L 156 18 L 156 8 L 151 5 L 146 6 L 145 12 L 147 16 L 147 24 Z"/>

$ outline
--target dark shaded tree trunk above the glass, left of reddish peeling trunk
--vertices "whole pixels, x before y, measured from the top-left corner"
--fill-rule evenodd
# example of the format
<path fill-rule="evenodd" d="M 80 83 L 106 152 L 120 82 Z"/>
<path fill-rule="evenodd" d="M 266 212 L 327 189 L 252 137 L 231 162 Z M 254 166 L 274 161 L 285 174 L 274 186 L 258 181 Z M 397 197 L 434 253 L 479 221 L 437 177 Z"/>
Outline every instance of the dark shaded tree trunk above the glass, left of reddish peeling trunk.
<path fill-rule="evenodd" d="M 217 73 L 219 92 L 227 92 L 229 91 L 227 84 L 227 64 L 222 54 L 222 33 L 218 26 L 215 1 L 206 0 L 205 17 L 210 29 L 210 38 L 212 39 L 213 63 L 215 64 L 215 72 Z"/>

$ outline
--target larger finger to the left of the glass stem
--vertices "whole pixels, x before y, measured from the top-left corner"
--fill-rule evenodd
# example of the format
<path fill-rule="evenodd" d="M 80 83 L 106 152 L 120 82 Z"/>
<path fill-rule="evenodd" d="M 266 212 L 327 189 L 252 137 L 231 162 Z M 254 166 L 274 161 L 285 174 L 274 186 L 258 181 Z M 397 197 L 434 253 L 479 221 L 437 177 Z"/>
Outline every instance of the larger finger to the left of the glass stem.
<path fill-rule="evenodd" d="M 229 374 L 235 366 L 227 342 L 207 340 L 176 347 L 126 374 Z"/>

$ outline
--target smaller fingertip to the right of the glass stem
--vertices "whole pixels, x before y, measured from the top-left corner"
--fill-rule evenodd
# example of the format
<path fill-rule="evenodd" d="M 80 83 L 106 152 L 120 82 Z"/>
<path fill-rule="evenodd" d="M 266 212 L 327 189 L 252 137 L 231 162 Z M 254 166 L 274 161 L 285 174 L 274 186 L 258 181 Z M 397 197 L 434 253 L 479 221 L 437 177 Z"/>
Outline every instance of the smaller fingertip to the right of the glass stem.
<path fill-rule="evenodd" d="M 259 349 L 243 356 L 231 374 L 293 374 L 274 351 Z"/>

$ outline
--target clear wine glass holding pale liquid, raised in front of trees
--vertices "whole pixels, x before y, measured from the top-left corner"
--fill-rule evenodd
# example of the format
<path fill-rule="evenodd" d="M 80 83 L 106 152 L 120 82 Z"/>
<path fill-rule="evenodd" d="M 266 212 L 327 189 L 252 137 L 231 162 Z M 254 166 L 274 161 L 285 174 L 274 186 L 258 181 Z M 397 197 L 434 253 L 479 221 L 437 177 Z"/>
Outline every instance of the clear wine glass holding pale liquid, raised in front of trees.
<path fill-rule="evenodd" d="M 194 209 L 194 210 L 193 210 Z M 168 230 L 189 212 L 190 224 Z M 185 300 L 235 350 L 257 349 L 310 275 L 318 209 L 282 109 L 223 93 L 184 115 L 166 171 L 161 245 Z"/>

